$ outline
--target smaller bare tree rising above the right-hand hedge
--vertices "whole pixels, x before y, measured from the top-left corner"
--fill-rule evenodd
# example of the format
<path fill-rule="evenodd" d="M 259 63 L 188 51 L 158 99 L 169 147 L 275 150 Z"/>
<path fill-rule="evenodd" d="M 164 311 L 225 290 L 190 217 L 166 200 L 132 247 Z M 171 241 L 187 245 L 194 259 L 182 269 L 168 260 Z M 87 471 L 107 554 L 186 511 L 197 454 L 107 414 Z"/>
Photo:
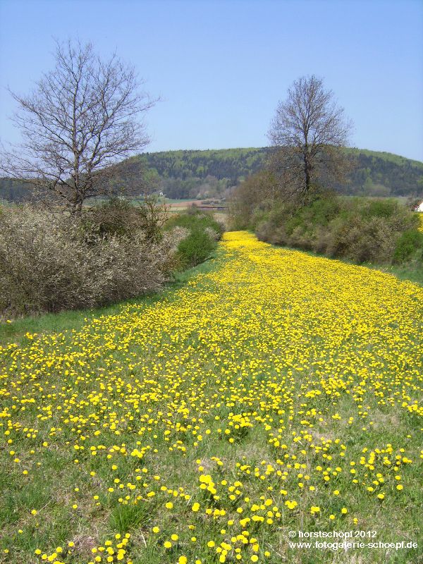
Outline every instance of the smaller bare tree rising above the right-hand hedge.
<path fill-rule="evenodd" d="M 276 147 L 271 170 L 288 196 L 304 202 L 318 187 L 343 178 L 348 159 L 341 147 L 351 128 L 323 80 L 312 75 L 293 82 L 269 130 Z"/>

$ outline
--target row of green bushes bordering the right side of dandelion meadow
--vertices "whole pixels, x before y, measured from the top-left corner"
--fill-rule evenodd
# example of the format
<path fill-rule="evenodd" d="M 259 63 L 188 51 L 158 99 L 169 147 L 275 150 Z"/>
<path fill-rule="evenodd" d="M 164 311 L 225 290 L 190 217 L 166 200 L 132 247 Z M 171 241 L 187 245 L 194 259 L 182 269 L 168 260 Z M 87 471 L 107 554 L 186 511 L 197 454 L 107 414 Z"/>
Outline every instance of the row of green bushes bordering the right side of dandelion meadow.
<path fill-rule="evenodd" d="M 255 231 L 269 243 L 359 264 L 391 264 L 422 259 L 418 224 L 417 214 L 396 200 L 325 195 L 305 207 L 276 203 Z"/>

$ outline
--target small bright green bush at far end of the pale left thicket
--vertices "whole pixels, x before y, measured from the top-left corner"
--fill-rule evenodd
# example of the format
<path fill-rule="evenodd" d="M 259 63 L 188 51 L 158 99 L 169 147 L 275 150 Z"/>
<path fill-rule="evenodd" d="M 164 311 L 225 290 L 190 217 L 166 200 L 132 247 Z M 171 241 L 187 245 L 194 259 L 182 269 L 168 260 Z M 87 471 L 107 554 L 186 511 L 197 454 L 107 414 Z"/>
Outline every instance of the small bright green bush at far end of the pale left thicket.
<path fill-rule="evenodd" d="M 166 229 L 172 228 L 183 229 L 186 233 L 180 240 L 176 253 L 180 269 L 190 268 L 206 260 L 216 249 L 224 231 L 223 225 L 212 214 L 195 206 L 170 219 L 166 223 Z"/>

